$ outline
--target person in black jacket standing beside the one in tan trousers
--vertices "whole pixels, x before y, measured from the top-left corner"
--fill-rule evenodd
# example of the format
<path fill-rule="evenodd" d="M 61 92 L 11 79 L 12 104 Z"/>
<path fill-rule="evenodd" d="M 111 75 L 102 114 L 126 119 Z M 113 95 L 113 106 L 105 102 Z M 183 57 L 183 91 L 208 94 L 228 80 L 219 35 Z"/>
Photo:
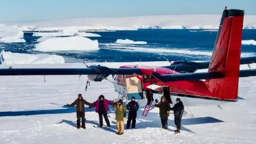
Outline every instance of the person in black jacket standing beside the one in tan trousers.
<path fill-rule="evenodd" d="M 126 124 L 126 128 L 130 128 L 130 122 L 132 121 L 132 128 L 135 128 L 136 118 L 137 118 L 137 110 L 139 110 L 139 104 L 135 101 L 135 97 L 132 97 L 132 100 L 126 105 L 127 110 L 129 111 L 128 121 Z"/>

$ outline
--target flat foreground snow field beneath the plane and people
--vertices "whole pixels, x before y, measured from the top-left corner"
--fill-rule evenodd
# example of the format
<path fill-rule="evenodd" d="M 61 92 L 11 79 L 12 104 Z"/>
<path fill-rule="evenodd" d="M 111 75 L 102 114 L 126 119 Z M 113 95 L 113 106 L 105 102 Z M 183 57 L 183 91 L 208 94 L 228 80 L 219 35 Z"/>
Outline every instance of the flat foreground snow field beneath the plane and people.
<path fill-rule="evenodd" d="M 108 62 L 97 63 L 108 67 L 124 64 L 163 66 L 169 62 Z M 8 68 L 9 66 L 0 66 Z M 18 67 L 80 67 L 84 64 L 47 64 Z M 252 64 L 253 69 L 256 68 Z M 243 69 L 248 69 L 246 65 Z M 112 80 L 112 77 L 108 77 Z M 256 77 L 240 78 L 239 99 L 217 106 L 185 107 L 181 134 L 174 135 L 174 116 L 168 121 L 168 130 L 162 130 L 159 109 L 154 108 L 148 117 L 137 115 L 137 129 L 125 130 L 117 136 L 115 111 L 110 108 L 111 127 L 97 128 L 99 117 L 94 108 L 86 107 L 86 130 L 75 128 L 75 108 L 65 104 L 73 102 L 78 93 L 93 102 L 101 94 L 106 99 L 117 98 L 113 84 L 91 82 L 84 91 L 87 77 L 82 75 L 0 76 L 0 143 L 255 143 L 256 141 Z M 155 97 L 157 98 L 157 97 Z M 193 114 L 193 115 L 192 115 Z M 11 115 L 11 116 L 10 116 Z"/>

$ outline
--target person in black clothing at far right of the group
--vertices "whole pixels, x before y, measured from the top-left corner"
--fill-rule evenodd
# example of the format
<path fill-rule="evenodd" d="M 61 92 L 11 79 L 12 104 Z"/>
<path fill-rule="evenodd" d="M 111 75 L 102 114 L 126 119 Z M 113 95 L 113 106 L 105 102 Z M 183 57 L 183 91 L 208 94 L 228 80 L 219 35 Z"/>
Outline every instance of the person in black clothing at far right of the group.
<path fill-rule="evenodd" d="M 171 108 L 174 110 L 174 123 L 177 127 L 177 130 L 174 130 L 175 133 L 181 133 L 181 118 L 183 117 L 184 106 L 181 99 L 176 99 L 176 104 Z"/>

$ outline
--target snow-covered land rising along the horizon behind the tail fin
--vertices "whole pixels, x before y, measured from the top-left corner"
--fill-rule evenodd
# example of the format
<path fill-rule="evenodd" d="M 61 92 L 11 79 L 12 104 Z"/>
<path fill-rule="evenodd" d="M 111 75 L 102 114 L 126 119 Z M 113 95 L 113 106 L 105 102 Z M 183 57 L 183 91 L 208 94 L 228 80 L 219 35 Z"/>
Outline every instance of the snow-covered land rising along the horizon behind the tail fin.
<path fill-rule="evenodd" d="M 220 14 L 183 14 L 165 16 L 130 16 L 112 18 L 84 18 L 55 21 L 40 21 L 35 23 L 20 23 L 19 25 L 35 25 L 37 30 L 62 30 L 76 27 L 79 30 L 136 30 L 140 28 L 161 29 L 218 29 Z M 256 28 L 256 16 L 244 16 L 244 28 Z"/>

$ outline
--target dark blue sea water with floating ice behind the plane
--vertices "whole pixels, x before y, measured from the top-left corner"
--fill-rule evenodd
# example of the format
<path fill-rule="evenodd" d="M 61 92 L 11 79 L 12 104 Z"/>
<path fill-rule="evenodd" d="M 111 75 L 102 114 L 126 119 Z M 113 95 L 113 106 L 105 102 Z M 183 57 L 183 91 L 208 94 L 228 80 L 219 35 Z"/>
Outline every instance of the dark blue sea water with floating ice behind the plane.
<path fill-rule="evenodd" d="M 98 51 L 52 51 L 66 62 L 138 62 L 163 60 L 210 60 L 216 31 L 202 29 L 139 29 L 137 31 L 93 32 L 101 37 Z M 25 34 L 26 43 L 0 43 L 0 50 L 15 53 L 34 51 L 36 39 Z M 146 41 L 146 45 L 116 44 L 117 39 Z M 243 40 L 256 40 L 255 29 L 244 29 Z M 242 56 L 256 56 L 255 45 L 242 45 Z"/>

